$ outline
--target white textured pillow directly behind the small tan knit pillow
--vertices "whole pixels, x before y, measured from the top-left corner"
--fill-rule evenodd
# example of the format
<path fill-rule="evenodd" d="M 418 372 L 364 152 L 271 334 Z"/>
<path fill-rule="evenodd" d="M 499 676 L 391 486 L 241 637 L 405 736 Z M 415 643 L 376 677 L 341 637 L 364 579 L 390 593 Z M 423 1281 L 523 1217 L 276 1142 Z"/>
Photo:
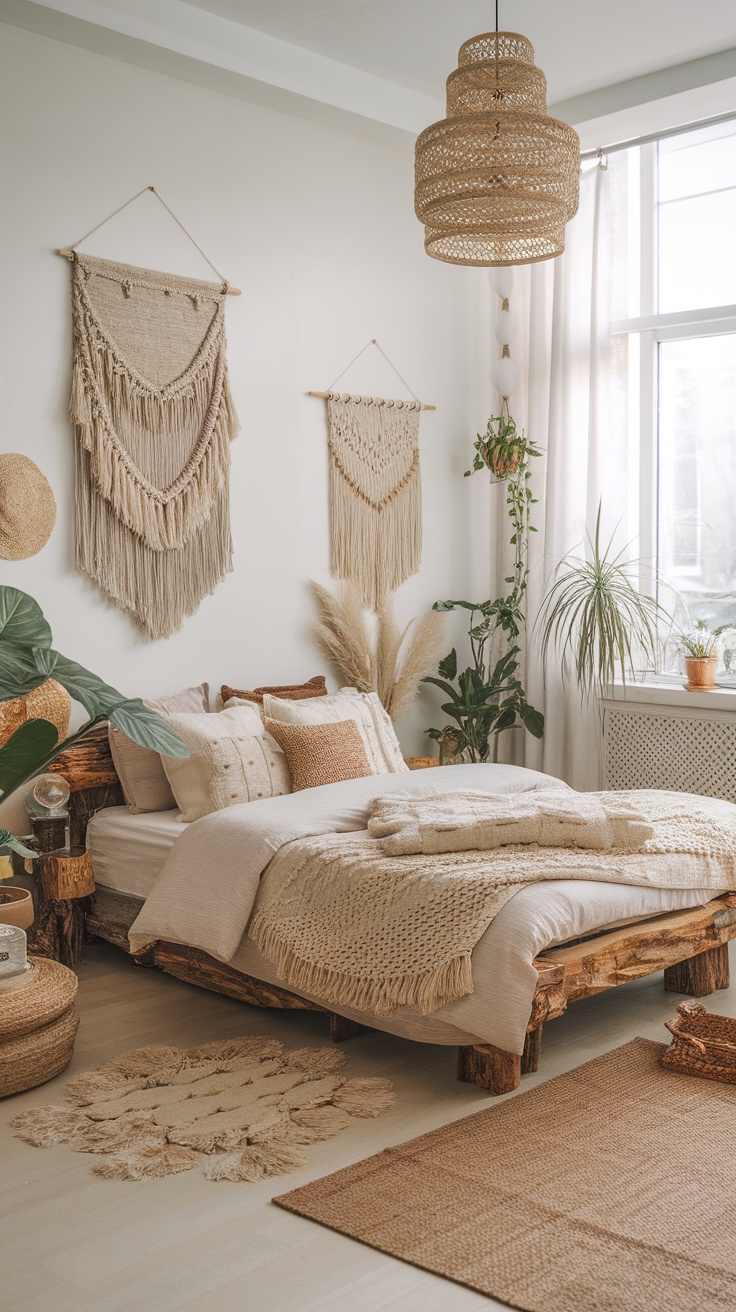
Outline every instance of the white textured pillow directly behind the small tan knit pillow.
<path fill-rule="evenodd" d="M 282 724 L 335 724 L 337 720 L 356 720 L 373 774 L 400 774 L 408 770 L 394 726 L 377 693 L 358 693 L 354 687 L 341 687 L 338 693 L 328 697 L 311 697 L 302 702 L 287 702 L 266 693 L 264 718 L 281 720 Z"/>

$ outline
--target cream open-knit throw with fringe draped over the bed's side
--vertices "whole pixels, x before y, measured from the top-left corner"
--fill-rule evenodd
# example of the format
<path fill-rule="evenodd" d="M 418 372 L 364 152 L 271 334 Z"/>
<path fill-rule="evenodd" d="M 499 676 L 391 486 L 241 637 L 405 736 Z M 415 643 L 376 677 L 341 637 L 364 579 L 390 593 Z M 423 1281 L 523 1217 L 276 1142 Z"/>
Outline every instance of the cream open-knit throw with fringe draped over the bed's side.
<path fill-rule="evenodd" d="M 387 855 L 383 840 L 366 832 L 296 840 L 261 886 L 251 938 L 287 984 L 324 1002 L 375 1015 L 399 1006 L 429 1014 L 472 993 L 472 949 L 526 883 L 736 888 L 736 807 L 681 792 L 598 796 L 636 813 L 635 823 L 653 836 L 634 853 L 517 842 L 407 855 Z M 571 804 L 569 794 L 563 799 Z M 502 799 L 506 810 L 514 802 Z M 442 803 L 442 796 L 421 799 L 425 827 L 433 808 L 436 828 L 446 821 Z M 374 815 L 380 806 L 374 803 Z"/>

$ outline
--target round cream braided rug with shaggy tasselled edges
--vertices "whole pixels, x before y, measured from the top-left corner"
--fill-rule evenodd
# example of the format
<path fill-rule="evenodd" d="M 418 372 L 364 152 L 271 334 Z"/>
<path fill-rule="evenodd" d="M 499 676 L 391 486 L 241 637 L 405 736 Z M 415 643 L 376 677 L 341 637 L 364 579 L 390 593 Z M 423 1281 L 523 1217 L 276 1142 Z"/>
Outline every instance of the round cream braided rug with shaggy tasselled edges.
<path fill-rule="evenodd" d="M 123 1052 L 71 1080 L 64 1106 L 13 1120 L 39 1148 L 102 1153 L 97 1176 L 142 1179 L 190 1170 L 207 1179 L 264 1179 L 307 1162 L 304 1144 L 332 1139 L 352 1117 L 379 1117 L 391 1084 L 341 1075 L 336 1048 L 285 1052 L 277 1039 L 223 1039 L 198 1048 Z"/>

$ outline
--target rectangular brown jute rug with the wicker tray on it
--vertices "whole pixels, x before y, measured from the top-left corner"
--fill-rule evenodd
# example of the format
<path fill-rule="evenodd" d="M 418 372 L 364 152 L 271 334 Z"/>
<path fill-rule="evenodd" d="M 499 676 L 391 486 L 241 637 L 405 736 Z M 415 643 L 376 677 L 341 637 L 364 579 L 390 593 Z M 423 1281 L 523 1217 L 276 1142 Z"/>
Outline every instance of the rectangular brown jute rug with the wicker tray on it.
<path fill-rule="evenodd" d="M 276 1198 L 525 1312 L 733 1312 L 736 1090 L 634 1039 Z"/>

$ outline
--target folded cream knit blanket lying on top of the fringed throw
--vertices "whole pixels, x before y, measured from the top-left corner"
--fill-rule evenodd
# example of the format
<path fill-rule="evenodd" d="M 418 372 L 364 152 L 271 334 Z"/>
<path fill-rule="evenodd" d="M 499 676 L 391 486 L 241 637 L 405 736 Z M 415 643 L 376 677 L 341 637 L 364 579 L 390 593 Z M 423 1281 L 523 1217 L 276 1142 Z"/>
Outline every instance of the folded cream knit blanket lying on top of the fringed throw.
<path fill-rule="evenodd" d="M 489 851 L 510 844 L 636 851 L 653 828 L 630 794 L 538 789 L 499 796 L 441 792 L 413 798 L 394 792 L 371 803 L 369 833 L 391 857 L 438 851 Z"/>

